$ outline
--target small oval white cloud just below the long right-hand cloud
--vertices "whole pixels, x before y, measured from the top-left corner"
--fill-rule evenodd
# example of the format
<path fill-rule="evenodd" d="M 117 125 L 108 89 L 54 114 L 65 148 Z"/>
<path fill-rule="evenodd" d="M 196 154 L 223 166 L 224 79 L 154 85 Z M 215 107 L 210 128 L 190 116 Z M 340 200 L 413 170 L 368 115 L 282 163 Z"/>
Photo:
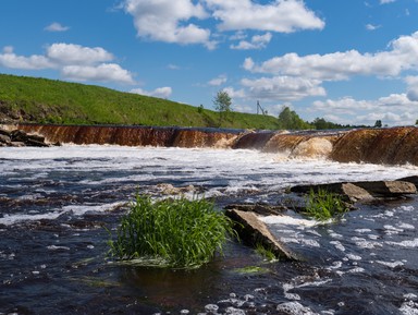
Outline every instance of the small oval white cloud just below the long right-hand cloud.
<path fill-rule="evenodd" d="M 270 100 L 299 100 L 308 96 L 324 96 L 325 90 L 319 86 L 320 81 L 304 77 L 273 76 L 257 80 L 242 80 L 248 89 L 247 97 Z"/>

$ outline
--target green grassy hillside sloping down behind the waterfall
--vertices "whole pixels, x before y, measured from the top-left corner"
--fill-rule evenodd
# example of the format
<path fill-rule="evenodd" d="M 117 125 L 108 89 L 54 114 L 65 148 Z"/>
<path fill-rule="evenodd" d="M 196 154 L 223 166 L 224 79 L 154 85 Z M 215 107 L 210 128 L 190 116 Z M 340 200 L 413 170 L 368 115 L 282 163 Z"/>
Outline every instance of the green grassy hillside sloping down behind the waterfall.
<path fill-rule="evenodd" d="M 276 129 L 278 119 L 219 113 L 100 86 L 0 74 L 0 122 Z"/>

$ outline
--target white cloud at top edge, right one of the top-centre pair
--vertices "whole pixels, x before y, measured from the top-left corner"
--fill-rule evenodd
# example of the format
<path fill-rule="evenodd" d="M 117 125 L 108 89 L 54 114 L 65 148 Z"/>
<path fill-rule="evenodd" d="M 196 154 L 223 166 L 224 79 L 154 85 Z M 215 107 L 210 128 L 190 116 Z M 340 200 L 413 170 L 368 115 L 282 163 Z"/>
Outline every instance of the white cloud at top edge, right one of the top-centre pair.
<path fill-rule="evenodd" d="M 299 0 L 275 0 L 271 4 L 250 0 L 206 0 L 221 31 L 257 29 L 292 33 L 322 29 L 324 22 Z"/>

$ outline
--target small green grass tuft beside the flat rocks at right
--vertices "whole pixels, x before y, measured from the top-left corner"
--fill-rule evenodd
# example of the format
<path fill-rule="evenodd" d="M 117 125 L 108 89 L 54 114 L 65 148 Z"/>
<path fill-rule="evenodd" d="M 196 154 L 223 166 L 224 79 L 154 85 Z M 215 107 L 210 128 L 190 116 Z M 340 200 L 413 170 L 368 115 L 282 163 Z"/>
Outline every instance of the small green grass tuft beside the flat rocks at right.
<path fill-rule="evenodd" d="M 327 221 L 341 217 L 348 208 L 342 197 L 337 194 L 319 189 L 310 190 L 306 198 L 305 215 L 319 221 Z"/>

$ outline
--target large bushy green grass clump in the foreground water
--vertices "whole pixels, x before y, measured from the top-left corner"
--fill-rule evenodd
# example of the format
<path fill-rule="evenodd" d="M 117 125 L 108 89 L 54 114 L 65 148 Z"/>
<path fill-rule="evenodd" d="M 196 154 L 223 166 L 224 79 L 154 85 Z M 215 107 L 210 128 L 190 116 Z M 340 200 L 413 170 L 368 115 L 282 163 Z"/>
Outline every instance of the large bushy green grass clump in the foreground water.
<path fill-rule="evenodd" d="M 137 195 L 122 218 L 110 253 L 143 265 L 194 268 L 208 263 L 234 233 L 232 221 L 205 198 Z"/>

